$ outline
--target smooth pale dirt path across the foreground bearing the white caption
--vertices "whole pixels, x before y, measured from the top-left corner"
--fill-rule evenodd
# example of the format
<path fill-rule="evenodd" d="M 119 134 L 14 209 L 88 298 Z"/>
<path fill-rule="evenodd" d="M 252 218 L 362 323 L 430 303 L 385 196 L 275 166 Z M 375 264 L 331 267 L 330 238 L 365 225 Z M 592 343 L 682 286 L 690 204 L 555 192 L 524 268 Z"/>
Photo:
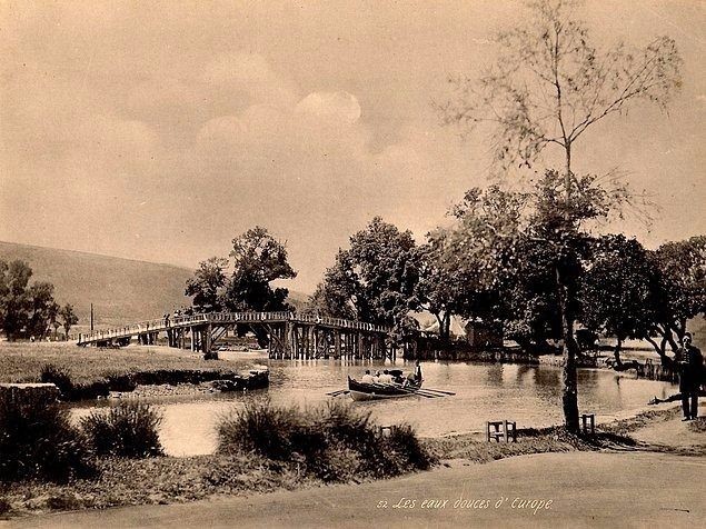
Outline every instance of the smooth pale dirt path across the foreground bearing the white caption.
<path fill-rule="evenodd" d="M 706 517 L 697 486 L 704 472 L 706 458 L 546 453 L 488 465 L 455 461 L 450 468 L 360 486 L 34 516 L 0 527 L 698 527 Z M 404 499 L 414 507 L 396 508 Z M 428 509 L 428 499 L 440 502 Z M 461 508 L 460 499 L 471 507 Z M 545 507 L 535 513 L 527 503 L 533 500 Z"/>

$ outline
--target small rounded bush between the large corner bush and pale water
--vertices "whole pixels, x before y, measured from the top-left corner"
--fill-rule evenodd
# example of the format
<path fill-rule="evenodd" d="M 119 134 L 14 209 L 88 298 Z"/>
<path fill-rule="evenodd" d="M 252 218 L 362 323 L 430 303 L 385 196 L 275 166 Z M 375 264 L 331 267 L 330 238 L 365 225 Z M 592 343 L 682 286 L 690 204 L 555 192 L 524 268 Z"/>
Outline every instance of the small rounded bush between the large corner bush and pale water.
<path fill-rule="evenodd" d="M 93 411 L 81 420 L 81 428 L 98 456 L 137 459 L 163 455 L 161 421 L 161 413 L 150 405 L 120 402 L 108 413 Z"/>

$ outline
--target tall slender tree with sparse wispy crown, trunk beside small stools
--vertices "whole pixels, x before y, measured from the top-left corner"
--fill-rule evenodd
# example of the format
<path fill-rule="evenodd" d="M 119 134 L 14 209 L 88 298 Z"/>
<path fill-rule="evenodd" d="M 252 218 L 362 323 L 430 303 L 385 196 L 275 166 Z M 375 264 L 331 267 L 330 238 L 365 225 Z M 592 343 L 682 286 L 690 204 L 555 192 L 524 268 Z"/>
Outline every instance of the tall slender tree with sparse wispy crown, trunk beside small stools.
<path fill-rule="evenodd" d="M 455 93 L 439 106 L 448 123 L 494 126 L 494 156 L 500 170 L 518 161 L 529 166 L 549 146 L 560 149 L 565 207 L 557 229 L 565 233 L 576 227 L 568 204 L 575 190 L 571 157 L 579 138 L 639 100 L 665 108 L 682 82 L 682 60 L 673 39 L 659 37 L 637 51 L 623 44 L 601 51 L 574 17 L 578 3 L 531 2 L 528 23 L 498 36 L 495 66 L 478 81 L 450 79 Z M 563 276 L 566 270 L 559 260 L 556 264 L 565 355 L 564 417 L 567 429 L 578 431 L 577 348 L 573 317 L 566 310 L 571 279 Z"/>

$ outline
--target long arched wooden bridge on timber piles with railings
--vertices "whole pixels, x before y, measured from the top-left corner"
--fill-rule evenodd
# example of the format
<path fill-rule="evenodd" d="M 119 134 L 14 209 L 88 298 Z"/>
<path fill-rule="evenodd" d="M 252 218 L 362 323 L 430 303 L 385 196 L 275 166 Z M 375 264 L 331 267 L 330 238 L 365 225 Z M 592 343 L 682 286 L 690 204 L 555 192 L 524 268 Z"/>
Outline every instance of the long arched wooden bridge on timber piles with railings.
<path fill-rule="evenodd" d="M 157 345 L 166 335 L 171 347 L 200 351 L 217 358 L 216 345 L 237 326 L 263 330 L 268 335 L 268 352 L 275 359 L 384 359 L 394 358 L 388 347 L 390 328 L 341 318 L 326 318 L 294 312 L 211 312 L 176 316 L 142 321 L 116 329 L 79 335 L 79 346 Z"/>

